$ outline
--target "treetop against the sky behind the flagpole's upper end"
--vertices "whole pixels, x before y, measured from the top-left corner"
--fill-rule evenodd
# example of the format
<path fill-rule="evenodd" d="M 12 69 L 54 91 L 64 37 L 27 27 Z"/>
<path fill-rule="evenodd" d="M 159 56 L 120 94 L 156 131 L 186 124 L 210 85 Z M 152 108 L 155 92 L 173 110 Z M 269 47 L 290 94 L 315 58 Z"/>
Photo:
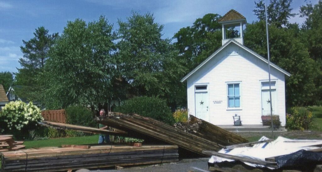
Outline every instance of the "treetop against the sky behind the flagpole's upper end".
<path fill-rule="evenodd" d="M 293 0 L 270 0 L 270 4 L 267 6 L 267 21 L 274 23 L 277 27 L 281 28 L 286 26 L 290 17 L 294 17 L 296 14 L 291 13 L 293 8 L 291 4 Z M 255 2 L 255 10 L 253 12 L 257 15 L 259 20 L 265 21 L 265 1 L 258 0 Z"/>

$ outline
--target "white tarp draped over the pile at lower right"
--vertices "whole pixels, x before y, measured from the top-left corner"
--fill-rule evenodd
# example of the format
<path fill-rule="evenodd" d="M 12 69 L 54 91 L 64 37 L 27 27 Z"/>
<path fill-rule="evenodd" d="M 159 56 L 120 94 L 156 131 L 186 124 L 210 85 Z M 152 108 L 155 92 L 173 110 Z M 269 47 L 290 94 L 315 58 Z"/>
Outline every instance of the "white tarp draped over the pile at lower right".
<path fill-rule="evenodd" d="M 267 137 L 263 136 L 259 141 L 268 140 Z M 286 155 L 297 152 L 299 150 L 312 150 L 321 148 L 322 140 L 298 140 L 298 139 L 287 139 L 279 136 L 275 141 L 269 143 L 255 144 L 252 147 L 235 148 L 232 150 L 220 150 L 219 153 L 228 155 L 235 155 L 239 157 L 251 158 L 265 161 L 265 158 Z M 225 159 L 216 156 L 212 156 L 209 159 L 209 163 L 218 163 L 223 161 L 234 161 L 233 159 Z M 253 167 L 264 167 L 261 165 L 245 163 Z"/>

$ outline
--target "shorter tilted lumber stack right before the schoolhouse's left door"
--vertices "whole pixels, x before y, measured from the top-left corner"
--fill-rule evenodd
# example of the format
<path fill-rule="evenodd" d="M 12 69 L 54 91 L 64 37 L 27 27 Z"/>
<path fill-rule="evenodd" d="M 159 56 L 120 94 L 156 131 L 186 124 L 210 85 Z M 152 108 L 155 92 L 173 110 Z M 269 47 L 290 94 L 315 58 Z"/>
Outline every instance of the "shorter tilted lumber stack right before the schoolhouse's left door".
<path fill-rule="evenodd" d="M 187 133 L 192 133 L 194 135 L 207 138 L 207 140 L 216 142 L 223 146 L 248 142 L 246 139 L 237 134 L 231 133 L 192 115 L 189 116 L 188 123 L 177 123 L 175 124 L 175 128 Z"/>

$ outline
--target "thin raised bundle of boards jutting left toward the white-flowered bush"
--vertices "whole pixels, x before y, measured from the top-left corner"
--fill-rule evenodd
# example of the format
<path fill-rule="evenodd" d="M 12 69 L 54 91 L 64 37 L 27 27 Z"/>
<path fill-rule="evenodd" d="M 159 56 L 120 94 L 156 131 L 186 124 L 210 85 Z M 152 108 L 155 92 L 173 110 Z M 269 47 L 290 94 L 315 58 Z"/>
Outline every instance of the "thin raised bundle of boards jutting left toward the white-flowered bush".
<path fill-rule="evenodd" d="M 76 131 L 84 132 L 84 133 L 108 134 L 108 135 L 126 135 L 127 134 L 126 132 L 121 131 L 121 130 L 117 130 L 117 129 L 102 130 L 102 129 L 98 129 L 98 128 L 85 127 L 85 126 L 79 126 L 79 125 L 71 125 L 71 124 L 63 124 L 63 123 L 55 123 L 55 122 L 49 122 L 49 121 L 39 122 L 39 124 L 42 126 L 52 127 L 55 129 L 76 130 Z"/>

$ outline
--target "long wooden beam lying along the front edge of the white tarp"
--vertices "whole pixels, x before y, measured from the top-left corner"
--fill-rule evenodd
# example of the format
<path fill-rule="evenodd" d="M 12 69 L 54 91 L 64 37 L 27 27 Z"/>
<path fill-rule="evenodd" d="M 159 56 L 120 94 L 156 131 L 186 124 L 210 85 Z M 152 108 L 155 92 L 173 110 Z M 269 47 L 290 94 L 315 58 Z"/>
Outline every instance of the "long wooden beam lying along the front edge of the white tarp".
<path fill-rule="evenodd" d="M 210 155 L 210 156 L 217 156 L 217 157 L 221 157 L 221 158 L 239 160 L 242 162 L 248 162 L 248 163 L 257 164 L 257 165 L 263 165 L 265 167 L 277 168 L 276 163 L 271 163 L 268 161 L 261 161 L 261 160 L 251 159 L 251 158 L 239 157 L 239 156 L 235 156 L 235 155 L 228 155 L 228 154 L 224 154 L 224 153 L 218 153 L 215 151 L 203 151 L 203 153 L 206 155 Z"/>

